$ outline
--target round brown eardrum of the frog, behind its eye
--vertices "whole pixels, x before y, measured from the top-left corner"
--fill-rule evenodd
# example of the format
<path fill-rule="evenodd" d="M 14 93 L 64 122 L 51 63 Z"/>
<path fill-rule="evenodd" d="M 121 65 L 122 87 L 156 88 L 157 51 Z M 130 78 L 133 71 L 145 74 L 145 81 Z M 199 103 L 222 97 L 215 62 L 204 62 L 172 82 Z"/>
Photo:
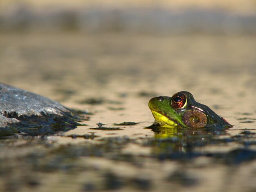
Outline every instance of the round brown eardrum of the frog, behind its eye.
<path fill-rule="evenodd" d="M 183 122 L 191 128 L 202 128 L 207 125 L 207 116 L 198 109 L 189 109 L 184 112 Z"/>

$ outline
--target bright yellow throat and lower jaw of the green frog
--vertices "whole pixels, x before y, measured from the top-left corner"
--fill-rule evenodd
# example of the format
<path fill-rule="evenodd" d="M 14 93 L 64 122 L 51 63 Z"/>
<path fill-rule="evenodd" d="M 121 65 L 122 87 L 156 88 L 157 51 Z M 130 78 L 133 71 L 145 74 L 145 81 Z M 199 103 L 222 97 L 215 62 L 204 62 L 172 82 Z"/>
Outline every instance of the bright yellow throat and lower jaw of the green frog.
<path fill-rule="evenodd" d="M 161 127 L 167 128 L 174 128 L 179 125 L 179 123 L 177 123 L 175 120 L 166 117 L 164 114 L 161 114 L 154 110 L 151 110 L 151 112 L 155 118 L 154 125 L 160 125 Z"/>

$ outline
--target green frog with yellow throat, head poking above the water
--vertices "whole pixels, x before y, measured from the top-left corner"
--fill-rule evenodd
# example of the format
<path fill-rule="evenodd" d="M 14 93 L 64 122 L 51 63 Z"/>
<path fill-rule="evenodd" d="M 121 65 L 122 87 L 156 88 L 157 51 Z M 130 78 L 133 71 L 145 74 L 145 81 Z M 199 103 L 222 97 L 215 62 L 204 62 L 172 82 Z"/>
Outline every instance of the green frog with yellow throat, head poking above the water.
<path fill-rule="evenodd" d="M 172 97 L 158 96 L 150 99 L 148 107 L 155 121 L 153 126 L 165 128 L 230 128 L 224 118 L 210 107 L 195 101 L 190 92 L 181 91 Z"/>

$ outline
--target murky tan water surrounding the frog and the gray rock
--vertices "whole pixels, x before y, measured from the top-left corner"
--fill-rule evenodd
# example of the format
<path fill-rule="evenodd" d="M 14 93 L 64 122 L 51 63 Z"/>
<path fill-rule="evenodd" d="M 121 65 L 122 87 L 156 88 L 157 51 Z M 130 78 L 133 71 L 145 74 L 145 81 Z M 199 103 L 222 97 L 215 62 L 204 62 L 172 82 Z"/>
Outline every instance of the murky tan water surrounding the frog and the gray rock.
<path fill-rule="evenodd" d="M 256 190 L 256 37 L 1 34 L 0 81 L 92 113 L 87 126 L 0 141 L 1 191 Z M 145 129 L 186 90 L 234 125 Z M 114 125 L 136 122 L 138 125 Z M 103 127 L 114 130 L 101 130 Z M 119 128 L 119 129 L 118 129 Z"/>

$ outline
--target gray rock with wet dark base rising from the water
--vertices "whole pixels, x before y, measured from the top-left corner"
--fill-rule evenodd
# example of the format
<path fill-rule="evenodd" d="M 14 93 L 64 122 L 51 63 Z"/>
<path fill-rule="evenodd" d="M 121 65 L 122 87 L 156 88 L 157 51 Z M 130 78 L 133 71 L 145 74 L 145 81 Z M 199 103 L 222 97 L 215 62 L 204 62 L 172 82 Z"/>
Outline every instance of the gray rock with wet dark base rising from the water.
<path fill-rule="evenodd" d="M 54 134 L 76 128 L 82 119 L 56 101 L 0 83 L 0 136 Z"/>

